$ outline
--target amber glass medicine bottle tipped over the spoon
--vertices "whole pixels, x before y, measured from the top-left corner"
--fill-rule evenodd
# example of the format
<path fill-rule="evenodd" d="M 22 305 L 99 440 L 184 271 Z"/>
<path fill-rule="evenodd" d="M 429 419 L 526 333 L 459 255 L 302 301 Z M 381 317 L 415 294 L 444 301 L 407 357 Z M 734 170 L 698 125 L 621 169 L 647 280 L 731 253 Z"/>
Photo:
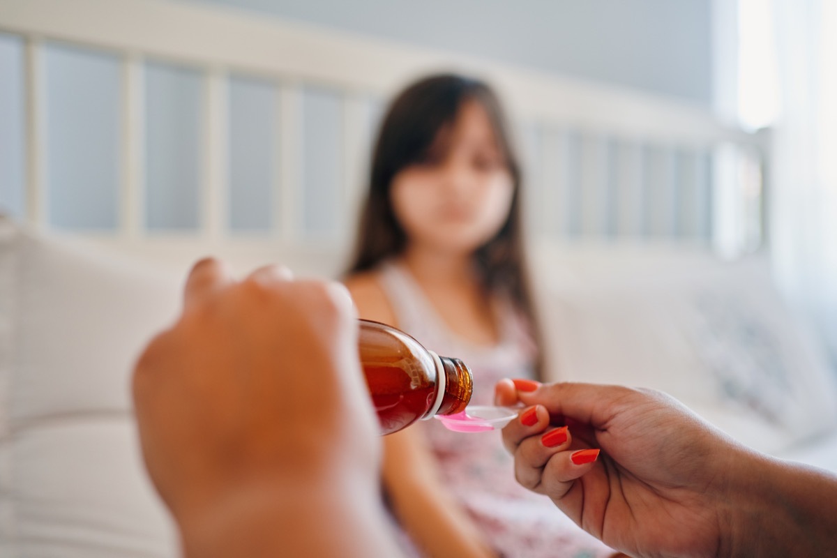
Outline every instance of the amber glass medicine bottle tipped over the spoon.
<path fill-rule="evenodd" d="M 369 320 L 360 320 L 359 345 L 382 434 L 465 411 L 474 380 L 459 359 L 438 356 L 403 331 Z"/>

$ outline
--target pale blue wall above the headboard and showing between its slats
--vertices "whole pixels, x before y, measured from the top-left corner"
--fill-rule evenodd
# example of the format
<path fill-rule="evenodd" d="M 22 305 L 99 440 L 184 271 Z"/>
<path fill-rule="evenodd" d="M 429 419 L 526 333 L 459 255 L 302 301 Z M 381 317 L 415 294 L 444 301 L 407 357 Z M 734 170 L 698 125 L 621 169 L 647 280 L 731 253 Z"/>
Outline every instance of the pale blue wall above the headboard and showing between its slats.
<path fill-rule="evenodd" d="M 225 4 L 240 11 L 459 50 L 513 64 L 581 75 L 708 103 L 709 8 L 696 0 L 171 0 Z M 478 16 L 478 17 L 477 17 Z M 48 143 L 44 171 L 50 223 L 59 228 L 115 228 L 120 202 L 120 66 L 95 50 L 49 42 L 44 56 Z M 145 214 L 151 230 L 200 227 L 205 102 L 203 70 L 146 63 Z M 268 232 L 279 218 L 278 90 L 236 75 L 229 82 L 229 197 L 234 231 Z M 302 233 L 333 238 L 345 230 L 341 198 L 343 99 L 306 84 L 302 90 L 300 175 L 291 212 Z M 382 102 L 367 99 L 370 118 Z M 25 210 L 23 49 L 0 34 L 0 211 Z M 531 135 L 531 134 L 529 134 Z M 526 134 L 524 134 L 526 136 Z M 582 180 L 571 137 L 567 182 Z M 358 138 L 367 145 L 368 138 Z M 573 151 L 576 150 L 576 151 Z M 364 161 L 368 154 L 363 155 Z M 582 200 L 567 199 L 567 207 Z M 567 233 L 582 233 L 571 212 Z"/>

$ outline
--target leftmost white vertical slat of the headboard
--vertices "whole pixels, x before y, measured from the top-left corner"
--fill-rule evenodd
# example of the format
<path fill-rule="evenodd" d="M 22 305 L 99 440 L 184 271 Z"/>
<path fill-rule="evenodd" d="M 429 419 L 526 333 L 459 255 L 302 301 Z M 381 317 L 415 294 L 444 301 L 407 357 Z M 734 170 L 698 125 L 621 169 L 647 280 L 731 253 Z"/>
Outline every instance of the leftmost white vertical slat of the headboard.
<path fill-rule="evenodd" d="M 49 227 L 47 211 L 46 89 L 44 44 L 27 37 L 23 44 L 26 91 L 26 216 L 36 228 Z"/>

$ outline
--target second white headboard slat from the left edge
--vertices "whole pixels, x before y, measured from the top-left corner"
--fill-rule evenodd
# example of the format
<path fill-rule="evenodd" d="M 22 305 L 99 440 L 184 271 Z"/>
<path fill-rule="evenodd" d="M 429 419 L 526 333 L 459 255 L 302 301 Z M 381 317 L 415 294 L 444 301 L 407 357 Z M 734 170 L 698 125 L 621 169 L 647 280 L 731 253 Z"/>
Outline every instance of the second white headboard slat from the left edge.
<path fill-rule="evenodd" d="M 145 229 L 145 69 L 140 54 L 122 61 L 121 231 L 138 238 Z"/>

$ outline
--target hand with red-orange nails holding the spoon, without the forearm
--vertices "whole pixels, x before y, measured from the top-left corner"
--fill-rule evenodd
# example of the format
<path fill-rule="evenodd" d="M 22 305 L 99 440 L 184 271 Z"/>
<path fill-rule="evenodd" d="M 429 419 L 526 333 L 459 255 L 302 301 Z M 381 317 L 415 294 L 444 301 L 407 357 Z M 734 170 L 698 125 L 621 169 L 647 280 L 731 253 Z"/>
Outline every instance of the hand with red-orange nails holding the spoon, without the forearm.
<path fill-rule="evenodd" d="M 517 387 L 501 381 L 496 403 L 534 406 L 503 430 L 523 486 L 630 555 L 727 553 L 732 491 L 741 488 L 728 480 L 757 466 L 753 453 L 658 392 L 530 381 Z M 573 455 L 587 463 L 574 463 Z"/>

